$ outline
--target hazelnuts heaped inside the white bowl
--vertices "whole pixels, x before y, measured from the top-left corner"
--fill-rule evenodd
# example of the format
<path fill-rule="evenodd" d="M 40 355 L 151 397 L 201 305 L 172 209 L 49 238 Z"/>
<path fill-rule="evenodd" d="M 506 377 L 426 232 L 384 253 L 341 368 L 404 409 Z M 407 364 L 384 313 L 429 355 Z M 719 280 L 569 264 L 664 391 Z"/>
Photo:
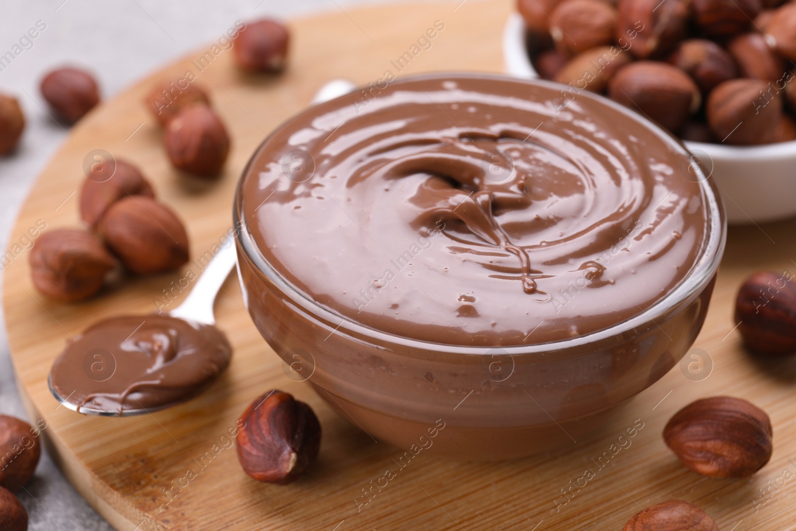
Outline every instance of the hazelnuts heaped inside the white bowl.
<path fill-rule="evenodd" d="M 540 76 L 681 139 L 796 140 L 796 2 L 518 0 Z M 572 97 L 572 96 L 568 96 Z"/>

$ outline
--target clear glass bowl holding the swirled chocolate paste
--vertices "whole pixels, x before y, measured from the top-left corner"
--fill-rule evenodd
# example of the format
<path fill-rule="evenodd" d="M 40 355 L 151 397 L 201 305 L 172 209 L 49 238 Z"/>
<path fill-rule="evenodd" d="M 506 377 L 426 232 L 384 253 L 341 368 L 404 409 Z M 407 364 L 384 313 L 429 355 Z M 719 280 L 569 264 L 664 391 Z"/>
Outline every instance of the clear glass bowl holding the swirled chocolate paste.
<path fill-rule="evenodd" d="M 529 90 L 550 86 L 488 77 L 495 83 L 525 83 Z M 677 139 L 625 107 L 599 96 L 583 97 L 633 116 L 690 156 Z M 571 444 L 672 369 L 699 334 L 727 223 L 712 179 L 698 167 L 692 170 L 707 208 L 703 247 L 690 274 L 654 306 L 609 328 L 556 342 L 451 346 L 386 334 L 334 313 L 263 258 L 245 224 L 243 190 L 267 142 L 244 170 L 233 209 L 248 312 L 287 364 L 286 374 L 307 381 L 345 420 L 411 455 L 509 459 Z"/>

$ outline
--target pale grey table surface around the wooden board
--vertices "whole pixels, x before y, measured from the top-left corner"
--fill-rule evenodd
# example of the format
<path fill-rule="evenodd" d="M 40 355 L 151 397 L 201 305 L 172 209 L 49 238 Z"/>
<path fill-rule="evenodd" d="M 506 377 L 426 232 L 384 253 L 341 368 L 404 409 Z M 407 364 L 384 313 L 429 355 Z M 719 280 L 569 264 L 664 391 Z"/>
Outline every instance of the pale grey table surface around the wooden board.
<path fill-rule="evenodd" d="M 389 0 L 387 0 L 389 1 Z M 0 55 L 41 21 L 46 28 L 0 71 L 0 92 L 14 95 L 27 126 L 18 150 L 0 157 L 0 248 L 5 249 L 18 211 L 37 174 L 66 138 L 49 117 L 38 84 L 49 68 L 80 64 L 96 73 L 103 99 L 180 57 L 214 41 L 232 22 L 289 18 L 320 10 L 346 10 L 385 0 L 0 0 Z M 41 23 L 40 23 L 41 24 Z M 14 262 L 9 267 L 21 267 Z M 0 273 L 2 275 L 2 273 Z M 0 308 L 2 312 L 2 308 Z M 5 323 L 5 317 L 3 317 Z M 0 330 L 0 413 L 25 418 Z M 19 494 L 32 531 L 113 529 L 80 498 L 47 455 Z"/>

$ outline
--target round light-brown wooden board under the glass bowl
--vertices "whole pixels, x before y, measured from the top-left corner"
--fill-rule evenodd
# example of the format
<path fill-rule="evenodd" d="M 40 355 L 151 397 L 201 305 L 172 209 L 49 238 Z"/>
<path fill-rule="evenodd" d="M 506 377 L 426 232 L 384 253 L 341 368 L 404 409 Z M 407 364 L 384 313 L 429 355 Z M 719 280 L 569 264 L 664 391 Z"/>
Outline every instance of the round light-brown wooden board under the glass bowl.
<path fill-rule="evenodd" d="M 733 299 L 745 275 L 759 268 L 796 271 L 792 221 L 730 231 L 712 306 L 695 345 L 712 360 L 709 377 L 689 379 L 676 367 L 631 400 L 602 435 L 529 459 L 457 463 L 420 453 L 399 467 L 393 460 L 395 447 L 353 428 L 308 386 L 286 377 L 282 361 L 244 311 L 234 277 L 216 308 L 218 326 L 231 339 L 235 357 L 203 396 L 163 412 L 119 419 L 78 415 L 59 407 L 50 395 L 50 365 L 70 335 L 109 314 L 156 310 L 164 302 L 163 290 L 179 284 L 189 268 L 197 271 L 196 264 L 189 264 L 170 275 L 127 279 L 76 305 L 52 303 L 35 291 L 29 252 L 14 244 L 37 222 L 45 223 L 45 230 L 77 225 L 76 190 L 86 154 L 104 149 L 141 166 L 158 197 L 185 220 L 192 256 L 201 256 L 232 225 L 233 190 L 249 155 L 266 131 L 304 107 L 322 84 L 339 77 L 367 84 L 387 70 L 399 73 L 391 61 L 438 20 L 445 28 L 431 49 L 414 57 L 400 74 L 500 72 L 501 31 L 512 7 L 510 0 L 424 2 L 345 13 L 337 9 L 291 21 L 290 66 L 282 76 L 242 76 L 227 52 L 199 72 L 192 61 L 205 50 L 197 51 L 103 103 L 70 131 L 71 138 L 42 172 L 11 234 L 15 257 L 6 268 L 3 303 L 29 415 L 46 423 L 43 434 L 53 458 L 117 529 L 618 530 L 642 507 L 670 498 L 702 506 L 725 531 L 796 529 L 796 364 L 793 358 L 761 361 L 748 356 L 732 321 Z M 141 103 L 154 80 L 186 70 L 211 89 L 213 104 L 232 133 L 227 169 L 209 185 L 197 185 L 170 168 L 162 133 Z M 317 467 L 291 486 L 248 478 L 228 438 L 244 408 L 269 388 L 308 402 L 324 429 Z M 677 462 L 661 439 L 665 422 L 678 408 L 725 392 L 758 404 L 774 424 L 774 456 L 751 479 L 697 476 Z M 634 426 L 643 428 L 620 439 Z M 377 483 L 388 469 L 396 477 L 384 488 L 370 490 L 371 482 Z M 594 477 L 584 482 L 586 470 Z M 355 500 L 368 499 L 363 498 L 365 488 L 376 494 L 357 507 Z"/>

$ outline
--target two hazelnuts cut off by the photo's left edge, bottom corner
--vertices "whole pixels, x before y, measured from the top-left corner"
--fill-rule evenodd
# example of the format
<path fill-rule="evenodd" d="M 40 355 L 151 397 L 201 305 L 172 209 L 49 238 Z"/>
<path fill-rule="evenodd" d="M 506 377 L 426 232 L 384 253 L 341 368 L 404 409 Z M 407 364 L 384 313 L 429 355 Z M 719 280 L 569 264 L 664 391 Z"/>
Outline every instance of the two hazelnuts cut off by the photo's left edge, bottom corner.
<path fill-rule="evenodd" d="M 28 513 L 14 496 L 36 471 L 41 457 L 39 431 L 23 420 L 0 415 L 0 529 L 26 531 Z"/>

